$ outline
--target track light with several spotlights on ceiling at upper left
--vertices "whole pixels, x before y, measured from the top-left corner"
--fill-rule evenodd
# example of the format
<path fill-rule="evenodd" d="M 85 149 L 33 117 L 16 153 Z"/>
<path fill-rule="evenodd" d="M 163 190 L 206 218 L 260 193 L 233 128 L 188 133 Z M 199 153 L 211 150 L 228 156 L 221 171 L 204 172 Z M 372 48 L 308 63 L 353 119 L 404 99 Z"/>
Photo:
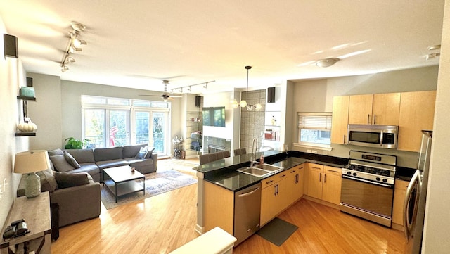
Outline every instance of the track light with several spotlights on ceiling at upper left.
<path fill-rule="evenodd" d="M 68 64 L 74 63 L 75 59 L 70 56 L 71 53 L 83 51 L 81 48 L 82 45 L 87 45 L 87 42 L 84 39 L 79 39 L 79 33 L 84 31 L 86 27 L 80 23 L 77 23 L 75 21 L 72 21 L 70 23 L 72 26 L 72 32 L 69 32 L 70 39 L 68 42 L 68 46 L 66 47 L 63 60 L 61 61 L 61 71 L 65 72 L 66 70 L 69 70 Z"/>

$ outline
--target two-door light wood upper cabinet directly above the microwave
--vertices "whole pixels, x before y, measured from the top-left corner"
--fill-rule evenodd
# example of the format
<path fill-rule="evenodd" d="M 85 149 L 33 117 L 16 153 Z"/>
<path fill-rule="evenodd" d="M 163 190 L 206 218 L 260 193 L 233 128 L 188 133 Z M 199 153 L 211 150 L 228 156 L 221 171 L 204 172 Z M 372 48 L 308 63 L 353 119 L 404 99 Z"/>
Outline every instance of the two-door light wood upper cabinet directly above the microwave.
<path fill-rule="evenodd" d="M 399 125 L 400 93 L 351 95 L 349 124 Z"/>

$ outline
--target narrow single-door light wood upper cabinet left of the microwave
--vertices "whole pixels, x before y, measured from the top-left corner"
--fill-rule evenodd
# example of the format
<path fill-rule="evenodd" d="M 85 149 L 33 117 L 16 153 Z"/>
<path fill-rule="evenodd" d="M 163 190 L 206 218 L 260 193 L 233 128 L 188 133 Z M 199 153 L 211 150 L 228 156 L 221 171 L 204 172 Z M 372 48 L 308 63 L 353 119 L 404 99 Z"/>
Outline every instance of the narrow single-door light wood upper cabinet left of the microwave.
<path fill-rule="evenodd" d="M 349 124 L 349 96 L 333 97 L 333 117 L 331 120 L 331 143 L 345 144 Z"/>

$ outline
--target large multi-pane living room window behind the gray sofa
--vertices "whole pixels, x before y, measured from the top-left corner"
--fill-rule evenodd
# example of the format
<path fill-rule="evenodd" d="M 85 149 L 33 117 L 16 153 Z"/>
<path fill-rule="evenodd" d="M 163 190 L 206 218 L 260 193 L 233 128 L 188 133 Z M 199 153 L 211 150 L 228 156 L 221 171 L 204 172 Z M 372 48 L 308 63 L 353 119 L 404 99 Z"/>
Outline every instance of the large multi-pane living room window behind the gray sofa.
<path fill-rule="evenodd" d="M 169 103 L 82 96 L 82 133 L 91 148 L 148 144 L 169 152 Z"/>

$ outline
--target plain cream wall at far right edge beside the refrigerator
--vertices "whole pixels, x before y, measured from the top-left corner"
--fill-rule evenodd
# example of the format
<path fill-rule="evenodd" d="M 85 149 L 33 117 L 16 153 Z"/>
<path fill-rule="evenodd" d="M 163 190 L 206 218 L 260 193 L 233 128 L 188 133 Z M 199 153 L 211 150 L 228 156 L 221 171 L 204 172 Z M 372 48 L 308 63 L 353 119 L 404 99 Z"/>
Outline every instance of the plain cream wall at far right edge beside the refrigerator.
<path fill-rule="evenodd" d="M 450 250 L 450 1 L 445 1 L 422 253 Z"/>

